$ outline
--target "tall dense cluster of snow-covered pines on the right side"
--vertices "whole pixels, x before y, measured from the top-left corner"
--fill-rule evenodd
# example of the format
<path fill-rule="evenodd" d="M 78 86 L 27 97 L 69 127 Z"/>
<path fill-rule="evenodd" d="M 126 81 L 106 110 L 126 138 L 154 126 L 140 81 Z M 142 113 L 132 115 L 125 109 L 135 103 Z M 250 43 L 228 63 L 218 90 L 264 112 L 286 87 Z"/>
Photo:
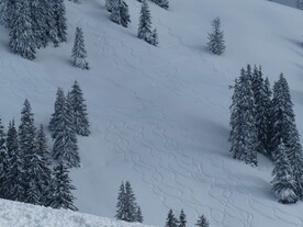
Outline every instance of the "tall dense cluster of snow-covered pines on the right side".
<path fill-rule="evenodd" d="M 240 70 L 233 87 L 231 152 L 233 158 L 257 166 L 257 152 L 273 159 L 272 190 L 281 203 L 303 198 L 303 151 L 290 89 L 283 75 L 270 89 L 261 68 Z M 272 95 L 272 98 L 271 98 Z"/>

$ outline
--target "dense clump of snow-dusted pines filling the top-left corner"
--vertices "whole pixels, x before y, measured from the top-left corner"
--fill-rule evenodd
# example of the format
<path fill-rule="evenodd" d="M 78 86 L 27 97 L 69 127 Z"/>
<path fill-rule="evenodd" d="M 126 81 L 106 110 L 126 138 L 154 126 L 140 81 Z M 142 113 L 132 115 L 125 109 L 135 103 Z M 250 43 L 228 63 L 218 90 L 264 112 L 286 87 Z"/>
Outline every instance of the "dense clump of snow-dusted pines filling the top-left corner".
<path fill-rule="evenodd" d="M 36 49 L 66 42 L 66 18 L 63 0 L 3 0 L 1 23 L 9 29 L 11 50 L 33 60 Z"/>

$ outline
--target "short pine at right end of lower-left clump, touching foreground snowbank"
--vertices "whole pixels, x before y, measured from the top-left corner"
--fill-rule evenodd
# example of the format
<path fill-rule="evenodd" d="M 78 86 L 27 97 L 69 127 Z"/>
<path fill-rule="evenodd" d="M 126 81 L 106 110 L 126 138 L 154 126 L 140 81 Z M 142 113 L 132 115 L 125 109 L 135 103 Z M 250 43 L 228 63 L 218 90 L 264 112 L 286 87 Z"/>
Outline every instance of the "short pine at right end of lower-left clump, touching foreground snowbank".
<path fill-rule="evenodd" d="M 78 211 L 74 205 L 75 197 L 71 194 L 71 190 L 76 190 L 76 188 L 71 184 L 68 177 L 68 169 L 64 164 L 58 164 L 53 172 L 52 197 L 49 197 L 48 206 Z"/>

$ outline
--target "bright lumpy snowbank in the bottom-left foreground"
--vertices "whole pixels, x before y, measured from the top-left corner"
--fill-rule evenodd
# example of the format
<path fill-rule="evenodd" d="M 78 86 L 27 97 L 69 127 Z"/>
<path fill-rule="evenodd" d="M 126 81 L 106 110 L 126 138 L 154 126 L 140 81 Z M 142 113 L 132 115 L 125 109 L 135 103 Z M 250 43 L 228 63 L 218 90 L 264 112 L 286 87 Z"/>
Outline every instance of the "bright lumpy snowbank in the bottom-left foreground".
<path fill-rule="evenodd" d="M 105 217 L 0 200 L 0 226 L 11 227 L 144 227 Z"/>

